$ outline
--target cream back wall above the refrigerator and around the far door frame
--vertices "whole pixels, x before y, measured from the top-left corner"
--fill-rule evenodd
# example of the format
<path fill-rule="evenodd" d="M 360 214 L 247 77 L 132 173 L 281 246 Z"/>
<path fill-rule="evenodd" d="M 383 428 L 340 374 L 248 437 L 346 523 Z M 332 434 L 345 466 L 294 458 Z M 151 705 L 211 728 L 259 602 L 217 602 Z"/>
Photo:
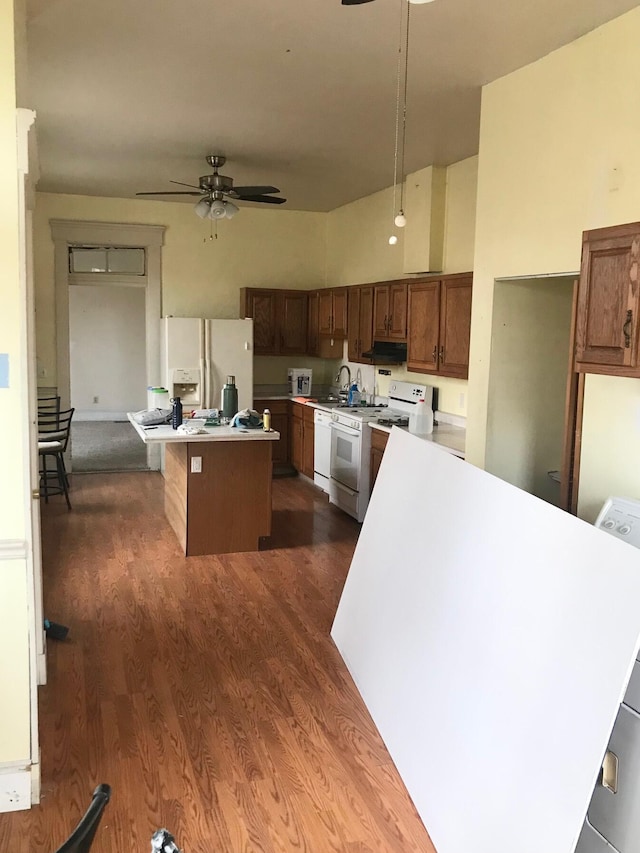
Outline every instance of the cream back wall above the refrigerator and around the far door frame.
<path fill-rule="evenodd" d="M 245 207 L 211 225 L 192 204 L 38 193 L 35 279 L 41 385 L 55 385 L 54 247 L 50 219 L 165 225 L 162 313 L 238 316 L 241 287 L 314 288 L 325 283 L 326 214 Z"/>

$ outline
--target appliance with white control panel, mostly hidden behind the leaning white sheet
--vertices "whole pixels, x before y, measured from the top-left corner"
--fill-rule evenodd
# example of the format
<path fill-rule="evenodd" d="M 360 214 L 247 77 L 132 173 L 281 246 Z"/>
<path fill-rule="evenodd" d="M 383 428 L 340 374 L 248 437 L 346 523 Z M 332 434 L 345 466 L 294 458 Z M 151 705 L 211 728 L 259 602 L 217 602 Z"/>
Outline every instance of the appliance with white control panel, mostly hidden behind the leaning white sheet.
<path fill-rule="evenodd" d="M 640 502 L 609 498 L 595 526 L 640 547 Z M 640 658 L 640 654 L 638 655 Z M 631 673 L 576 853 L 640 850 L 640 659 Z"/>

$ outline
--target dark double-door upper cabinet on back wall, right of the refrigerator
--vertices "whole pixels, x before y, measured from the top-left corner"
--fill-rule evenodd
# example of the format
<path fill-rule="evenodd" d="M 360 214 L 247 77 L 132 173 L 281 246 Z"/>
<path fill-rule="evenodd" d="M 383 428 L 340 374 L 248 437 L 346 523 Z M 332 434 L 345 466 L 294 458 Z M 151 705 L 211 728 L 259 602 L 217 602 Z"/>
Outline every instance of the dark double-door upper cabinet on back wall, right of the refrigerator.
<path fill-rule="evenodd" d="M 307 351 L 307 292 L 245 287 L 240 316 L 253 317 L 255 355 L 301 355 Z"/>

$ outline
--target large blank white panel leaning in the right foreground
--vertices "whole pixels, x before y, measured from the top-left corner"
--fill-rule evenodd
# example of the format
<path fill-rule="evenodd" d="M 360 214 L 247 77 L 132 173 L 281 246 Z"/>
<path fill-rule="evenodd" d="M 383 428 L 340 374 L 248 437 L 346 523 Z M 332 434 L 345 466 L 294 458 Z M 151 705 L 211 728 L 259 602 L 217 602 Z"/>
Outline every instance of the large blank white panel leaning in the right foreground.
<path fill-rule="evenodd" d="M 332 636 L 438 853 L 572 853 L 639 602 L 636 549 L 393 430 Z"/>

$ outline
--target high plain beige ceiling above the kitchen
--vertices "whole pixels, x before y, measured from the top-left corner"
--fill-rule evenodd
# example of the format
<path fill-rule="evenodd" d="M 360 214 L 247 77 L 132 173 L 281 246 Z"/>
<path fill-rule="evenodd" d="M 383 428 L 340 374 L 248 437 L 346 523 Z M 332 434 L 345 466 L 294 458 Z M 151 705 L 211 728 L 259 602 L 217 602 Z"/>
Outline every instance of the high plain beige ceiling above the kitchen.
<path fill-rule="evenodd" d="M 481 86 L 637 5 L 410 6 L 406 171 L 477 153 Z M 39 190 L 133 197 L 198 183 L 222 153 L 278 209 L 326 211 L 393 182 L 405 0 L 27 0 Z M 531 117 L 535 122 L 535 116 Z M 174 197 L 173 200 L 181 200 Z M 185 198 L 193 202 L 193 199 Z"/>

